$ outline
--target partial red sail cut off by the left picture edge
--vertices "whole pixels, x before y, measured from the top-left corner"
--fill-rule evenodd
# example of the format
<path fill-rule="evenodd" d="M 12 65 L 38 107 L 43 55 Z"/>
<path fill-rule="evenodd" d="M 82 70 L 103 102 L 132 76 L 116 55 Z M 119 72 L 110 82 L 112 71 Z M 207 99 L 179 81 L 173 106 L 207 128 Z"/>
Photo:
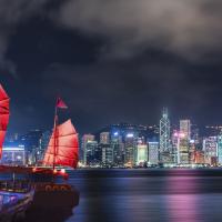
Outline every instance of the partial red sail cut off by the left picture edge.
<path fill-rule="evenodd" d="M 9 123 L 9 97 L 0 84 L 0 158 L 2 154 L 2 145 Z"/>

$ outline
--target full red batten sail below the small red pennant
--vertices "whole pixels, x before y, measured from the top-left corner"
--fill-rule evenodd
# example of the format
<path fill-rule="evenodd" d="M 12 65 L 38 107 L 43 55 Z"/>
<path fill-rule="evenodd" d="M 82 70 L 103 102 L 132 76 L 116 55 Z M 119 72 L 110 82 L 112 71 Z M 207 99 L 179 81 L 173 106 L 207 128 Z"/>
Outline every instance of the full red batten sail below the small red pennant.
<path fill-rule="evenodd" d="M 54 162 L 56 165 L 77 168 L 78 160 L 78 134 L 71 120 L 68 120 L 61 125 L 58 125 L 57 130 L 53 130 L 43 163 L 46 165 L 53 165 Z"/>

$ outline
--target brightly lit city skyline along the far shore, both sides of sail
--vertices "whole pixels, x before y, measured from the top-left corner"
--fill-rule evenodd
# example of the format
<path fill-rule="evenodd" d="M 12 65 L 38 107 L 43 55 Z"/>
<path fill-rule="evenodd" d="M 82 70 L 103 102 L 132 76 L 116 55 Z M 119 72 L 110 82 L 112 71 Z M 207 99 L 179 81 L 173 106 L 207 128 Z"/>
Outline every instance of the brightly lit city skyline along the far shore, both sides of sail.
<path fill-rule="evenodd" d="M 222 128 L 209 128 L 205 135 L 190 120 L 170 124 L 163 109 L 160 125 L 112 124 L 95 134 L 79 134 L 80 168 L 153 168 L 163 165 L 221 167 Z M 42 160 L 50 131 L 29 131 L 6 141 L 3 162 L 37 164 Z"/>

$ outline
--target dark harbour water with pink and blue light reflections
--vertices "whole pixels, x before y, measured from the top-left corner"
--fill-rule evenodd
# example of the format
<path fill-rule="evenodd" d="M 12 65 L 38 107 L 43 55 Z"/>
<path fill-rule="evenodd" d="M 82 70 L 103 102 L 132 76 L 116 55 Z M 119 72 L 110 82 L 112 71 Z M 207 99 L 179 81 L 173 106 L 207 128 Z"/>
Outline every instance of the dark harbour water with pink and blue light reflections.
<path fill-rule="evenodd" d="M 67 222 L 222 221 L 221 170 L 79 170 Z"/>

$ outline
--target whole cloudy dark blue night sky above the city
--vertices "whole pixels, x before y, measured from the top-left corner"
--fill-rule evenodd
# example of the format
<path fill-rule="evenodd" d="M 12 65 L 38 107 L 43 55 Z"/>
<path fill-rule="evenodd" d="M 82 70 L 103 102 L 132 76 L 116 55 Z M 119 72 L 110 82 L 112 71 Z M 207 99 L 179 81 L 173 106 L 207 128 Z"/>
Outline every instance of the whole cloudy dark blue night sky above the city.
<path fill-rule="evenodd" d="M 10 132 L 51 129 L 57 95 L 77 130 L 222 124 L 221 0 L 0 0 Z"/>

